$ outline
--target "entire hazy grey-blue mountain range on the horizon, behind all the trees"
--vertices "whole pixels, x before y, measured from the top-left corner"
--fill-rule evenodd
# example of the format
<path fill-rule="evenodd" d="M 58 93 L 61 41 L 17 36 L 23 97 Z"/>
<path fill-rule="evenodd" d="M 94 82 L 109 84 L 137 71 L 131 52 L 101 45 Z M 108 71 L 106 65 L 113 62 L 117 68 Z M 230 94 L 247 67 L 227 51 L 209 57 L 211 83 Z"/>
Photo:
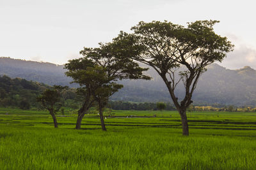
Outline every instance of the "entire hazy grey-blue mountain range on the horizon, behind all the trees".
<path fill-rule="evenodd" d="M 0 75 L 6 74 L 12 78 L 20 77 L 48 85 L 70 86 L 72 79 L 64 73 L 65 69 L 60 65 L 0 57 Z M 122 81 L 124 88 L 111 99 L 134 102 L 171 101 L 163 80 L 156 71 L 150 69 L 147 74 L 152 80 Z M 177 87 L 176 94 L 179 99 L 184 95 L 182 83 Z M 203 105 L 256 106 L 256 71 L 248 66 L 231 70 L 212 64 L 198 81 L 193 101 Z"/>

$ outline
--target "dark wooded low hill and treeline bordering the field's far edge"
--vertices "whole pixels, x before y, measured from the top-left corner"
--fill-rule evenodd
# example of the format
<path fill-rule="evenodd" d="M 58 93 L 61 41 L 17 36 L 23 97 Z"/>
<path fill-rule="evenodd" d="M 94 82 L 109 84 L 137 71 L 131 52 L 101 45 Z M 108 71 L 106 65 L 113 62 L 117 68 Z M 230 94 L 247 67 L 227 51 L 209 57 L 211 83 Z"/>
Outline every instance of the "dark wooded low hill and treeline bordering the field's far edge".
<path fill-rule="evenodd" d="M 49 85 L 28 81 L 22 78 L 0 76 L 0 106 L 21 108 L 24 110 L 43 110 L 41 104 L 36 102 L 36 97 L 44 90 L 51 89 Z M 77 96 L 76 89 L 64 90 L 61 94 L 63 107 L 77 110 L 81 106 L 81 98 Z M 108 108 L 113 110 L 157 110 L 157 103 L 132 103 L 127 101 L 109 101 Z M 166 103 L 164 110 L 175 110 L 174 106 Z M 256 111 L 253 107 L 236 107 L 215 104 L 212 106 L 189 106 L 188 111 Z M 97 112 L 97 111 L 96 111 Z M 95 112 L 95 113 L 96 113 Z"/>

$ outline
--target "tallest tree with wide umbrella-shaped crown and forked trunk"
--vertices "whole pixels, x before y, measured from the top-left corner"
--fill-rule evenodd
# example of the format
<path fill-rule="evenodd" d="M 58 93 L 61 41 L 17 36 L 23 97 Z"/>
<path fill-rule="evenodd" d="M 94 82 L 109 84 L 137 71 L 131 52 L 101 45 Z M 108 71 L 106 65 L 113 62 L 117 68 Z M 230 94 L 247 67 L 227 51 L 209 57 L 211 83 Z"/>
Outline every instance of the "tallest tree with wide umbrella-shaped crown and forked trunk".
<path fill-rule="evenodd" d="M 188 23 L 188 27 L 171 22 L 140 22 L 131 34 L 120 32 L 113 39 L 119 44 L 120 55 L 151 66 L 161 76 L 173 104 L 180 114 L 183 135 L 189 135 L 186 110 L 196 89 L 196 83 L 206 66 L 221 62 L 234 45 L 213 30 L 218 21 L 203 20 Z M 178 78 L 177 78 L 178 77 Z M 183 99 L 175 96 L 175 88 L 183 82 Z"/>

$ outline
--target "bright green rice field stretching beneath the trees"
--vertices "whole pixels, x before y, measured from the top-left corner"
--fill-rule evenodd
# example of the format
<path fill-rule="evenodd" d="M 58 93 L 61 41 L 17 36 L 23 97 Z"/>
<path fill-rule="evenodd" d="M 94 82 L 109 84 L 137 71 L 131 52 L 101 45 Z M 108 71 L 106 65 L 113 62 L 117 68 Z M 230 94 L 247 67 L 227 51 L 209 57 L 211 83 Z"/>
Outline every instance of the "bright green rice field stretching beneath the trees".
<path fill-rule="evenodd" d="M 97 115 L 77 131 L 76 115 L 54 129 L 47 112 L 0 108 L 0 169 L 256 169 L 256 113 L 188 113 L 188 137 L 176 111 L 114 113 L 107 132 Z"/>

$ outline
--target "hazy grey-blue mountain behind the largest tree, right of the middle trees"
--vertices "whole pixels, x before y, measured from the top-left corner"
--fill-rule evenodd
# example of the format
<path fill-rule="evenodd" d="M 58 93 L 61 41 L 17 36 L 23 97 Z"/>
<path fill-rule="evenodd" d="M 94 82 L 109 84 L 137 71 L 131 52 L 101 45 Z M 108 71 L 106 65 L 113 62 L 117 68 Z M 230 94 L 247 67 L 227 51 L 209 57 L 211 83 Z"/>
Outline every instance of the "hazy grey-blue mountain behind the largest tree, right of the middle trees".
<path fill-rule="evenodd" d="M 147 74 L 151 81 L 125 80 L 124 89 L 113 96 L 134 101 L 168 101 L 170 95 L 163 80 L 150 69 Z M 256 104 L 256 71 L 250 67 L 230 70 L 218 64 L 212 64 L 200 77 L 193 94 L 196 104 L 236 104 L 239 106 Z M 135 88 L 136 87 L 136 88 Z M 132 95 L 131 95 L 132 94 Z M 137 94 L 137 95 L 136 95 Z M 184 85 L 179 84 L 176 90 L 179 99 L 184 96 Z M 132 97 L 133 98 L 132 98 Z"/>

